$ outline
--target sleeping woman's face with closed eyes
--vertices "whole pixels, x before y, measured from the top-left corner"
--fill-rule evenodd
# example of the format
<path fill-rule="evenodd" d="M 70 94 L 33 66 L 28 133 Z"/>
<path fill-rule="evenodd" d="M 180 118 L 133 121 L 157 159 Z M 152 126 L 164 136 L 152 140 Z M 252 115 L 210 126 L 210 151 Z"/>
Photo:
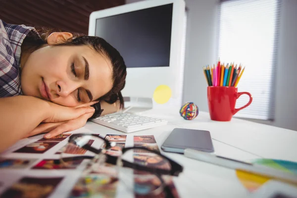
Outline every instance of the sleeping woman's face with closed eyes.
<path fill-rule="evenodd" d="M 96 100 L 112 88 L 110 61 L 89 46 L 46 46 L 21 67 L 24 95 L 64 106 Z"/>

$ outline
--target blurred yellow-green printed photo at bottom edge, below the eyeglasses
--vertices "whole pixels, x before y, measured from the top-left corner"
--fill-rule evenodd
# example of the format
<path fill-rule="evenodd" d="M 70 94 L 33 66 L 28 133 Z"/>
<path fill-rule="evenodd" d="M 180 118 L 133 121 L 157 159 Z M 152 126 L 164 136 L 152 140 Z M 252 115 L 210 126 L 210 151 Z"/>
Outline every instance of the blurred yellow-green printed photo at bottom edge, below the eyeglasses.
<path fill-rule="evenodd" d="M 114 198 L 118 179 L 94 174 L 81 177 L 72 189 L 69 198 Z"/>

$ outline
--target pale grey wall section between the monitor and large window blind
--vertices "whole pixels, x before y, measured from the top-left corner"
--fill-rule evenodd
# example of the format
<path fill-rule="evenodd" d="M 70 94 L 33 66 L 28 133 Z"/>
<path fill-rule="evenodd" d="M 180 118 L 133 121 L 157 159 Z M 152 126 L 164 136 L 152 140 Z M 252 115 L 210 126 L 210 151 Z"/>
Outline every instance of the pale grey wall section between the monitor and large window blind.
<path fill-rule="evenodd" d="M 202 66 L 216 61 L 218 0 L 185 0 L 188 8 L 183 101 L 208 111 Z"/>

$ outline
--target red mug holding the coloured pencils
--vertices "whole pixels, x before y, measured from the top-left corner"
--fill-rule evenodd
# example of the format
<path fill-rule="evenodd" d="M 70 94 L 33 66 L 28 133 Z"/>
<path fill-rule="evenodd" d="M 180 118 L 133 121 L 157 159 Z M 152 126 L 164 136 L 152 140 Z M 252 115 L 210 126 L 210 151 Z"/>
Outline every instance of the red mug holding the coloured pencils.
<path fill-rule="evenodd" d="M 235 108 L 236 100 L 243 94 L 249 101 L 241 108 Z M 239 110 L 246 108 L 252 101 L 248 92 L 237 92 L 237 87 L 207 87 L 207 100 L 210 118 L 216 121 L 230 121 Z"/>

